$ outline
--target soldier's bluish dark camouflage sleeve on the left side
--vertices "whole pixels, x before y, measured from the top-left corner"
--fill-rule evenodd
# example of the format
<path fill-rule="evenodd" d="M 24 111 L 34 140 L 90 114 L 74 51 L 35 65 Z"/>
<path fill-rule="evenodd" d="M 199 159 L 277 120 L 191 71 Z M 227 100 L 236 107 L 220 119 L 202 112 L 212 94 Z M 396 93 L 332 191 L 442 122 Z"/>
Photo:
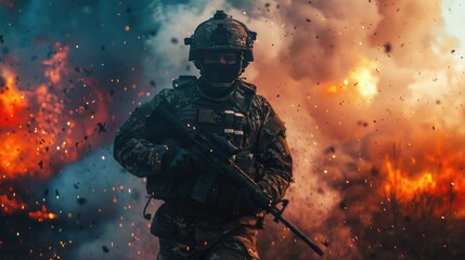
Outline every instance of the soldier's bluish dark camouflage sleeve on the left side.
<path fill-rule="evenodd" d="M 148 177 L 162 171 L 162 158 L 168 147 L 148 141 L 146 125 L 158 101 L 159 96 L 156 95 L 151 102 L 137 107 L 116 132 L 113 156 L 137 177 Z"/>

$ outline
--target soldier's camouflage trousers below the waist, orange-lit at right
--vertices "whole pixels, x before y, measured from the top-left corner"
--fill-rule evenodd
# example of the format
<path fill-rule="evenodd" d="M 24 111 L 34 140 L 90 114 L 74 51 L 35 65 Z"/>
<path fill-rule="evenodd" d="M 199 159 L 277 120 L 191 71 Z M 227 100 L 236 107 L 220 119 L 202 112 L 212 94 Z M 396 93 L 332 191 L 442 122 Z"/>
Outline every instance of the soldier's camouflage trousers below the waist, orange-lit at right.
<path fill-rule="evenodd" d="M 255 217 L 218 224 L 212 219 L 170 216 L 162 207 L 156 220 L 165 222 L 163 229 L 171 226 L 169 234 L 159 237 L 158 260 L 259 259 Z M 160 223 L 153 229 L 155 224 Z"/>

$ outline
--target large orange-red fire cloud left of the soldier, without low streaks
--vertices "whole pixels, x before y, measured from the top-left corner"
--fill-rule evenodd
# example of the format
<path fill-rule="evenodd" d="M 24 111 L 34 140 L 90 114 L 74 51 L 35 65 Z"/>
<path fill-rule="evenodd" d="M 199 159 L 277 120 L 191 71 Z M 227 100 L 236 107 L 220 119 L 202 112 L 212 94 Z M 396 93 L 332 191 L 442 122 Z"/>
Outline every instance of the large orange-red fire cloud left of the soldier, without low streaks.
<path fill-rule="evenodd" d="M 93 90 L 92 115 L 86 115 L 82 106 L 65 107 L 60 82 L 68 74 L 66 58 L 69 48 L 54 46 L 55 54 L 43 62 L 43 83 L 35 91 L 21 93 L 13 73 L 0 68 L 5 78 L 5 90 L 0 94 L 0 113 L 4 123 L 0 132 L 0 171 L 3 177 L 36 174 L 47 178 L 52 173 L 51 160 L 73 161 L 79 156 L 80 146 L 94 134 L 99 121 L 107 119 L 102 95 Z M 51 91 L 53 86 L 55 91 Z M 87 99 L 85 96 L 83 99 Z"/>

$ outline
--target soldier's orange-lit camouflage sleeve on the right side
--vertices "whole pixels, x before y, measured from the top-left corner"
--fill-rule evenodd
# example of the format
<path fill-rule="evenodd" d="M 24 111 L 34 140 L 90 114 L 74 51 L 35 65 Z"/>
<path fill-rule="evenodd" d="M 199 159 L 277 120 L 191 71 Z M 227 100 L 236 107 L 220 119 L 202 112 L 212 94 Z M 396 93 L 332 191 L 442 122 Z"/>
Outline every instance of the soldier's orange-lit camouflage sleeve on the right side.
<path fill-rule="evenodd" d="M 286 143 L 284 123 L 270 104 L 259 132 L 258 152 L 258 162 L 263 166 L 263 177 L 258 184 L 276 203 L 284 197 L 293 181 L 293 158 Z"/>

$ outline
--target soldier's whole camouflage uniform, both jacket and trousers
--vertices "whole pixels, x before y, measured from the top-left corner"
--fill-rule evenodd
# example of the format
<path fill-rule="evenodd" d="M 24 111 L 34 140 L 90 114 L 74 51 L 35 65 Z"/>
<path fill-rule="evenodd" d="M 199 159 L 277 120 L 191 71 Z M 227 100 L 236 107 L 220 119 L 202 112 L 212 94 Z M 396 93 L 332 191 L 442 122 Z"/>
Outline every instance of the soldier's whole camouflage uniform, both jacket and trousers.
<path fill-rule="evenodd" d="M 257 227 L 263 212 L 236 216 L 194 202 L 190 196 L 198 172 L 167 179 L 170 173 L 164 172 L 163 158 L 170 151 L 170 141 L 154 130 L 163 126 L 151 116 L 156 106 L 167 105 L 184 122 L 224 135 L 221 128 L 224 110 L 244 114 L 241 153 L 254 158 L 255 170 L 248 172 L 274 202 L 283 198 L 292 182 L 292 156 L 285 141 L 285 127 L 270 103 L 255 94 L 255 86 L 250 83 L 237 80 L 233 93 L 218 101 L 203 95 L 195 78 L 180 79 L 175 81 L 173 89 L 162 90 L 135 108 L 117 131 L 114 145 L 114 157 L 122 167 L 137 177 L 147 177 L 148 193 L 156 197 L 158 191 L 168 191 L 162 196 L 165 204 L 152 223 L 152 233 L 160 243 L 158 259 L 259 259 Z M 250 168 L 250 165 L 244 167 Z M 168 183 L 171 190 L 159 190 L 160 182 Z M 219 196 L 216 191 L 224 185 L 233 184 L 218 179 L 209 192 L 210 197 Z"/>

